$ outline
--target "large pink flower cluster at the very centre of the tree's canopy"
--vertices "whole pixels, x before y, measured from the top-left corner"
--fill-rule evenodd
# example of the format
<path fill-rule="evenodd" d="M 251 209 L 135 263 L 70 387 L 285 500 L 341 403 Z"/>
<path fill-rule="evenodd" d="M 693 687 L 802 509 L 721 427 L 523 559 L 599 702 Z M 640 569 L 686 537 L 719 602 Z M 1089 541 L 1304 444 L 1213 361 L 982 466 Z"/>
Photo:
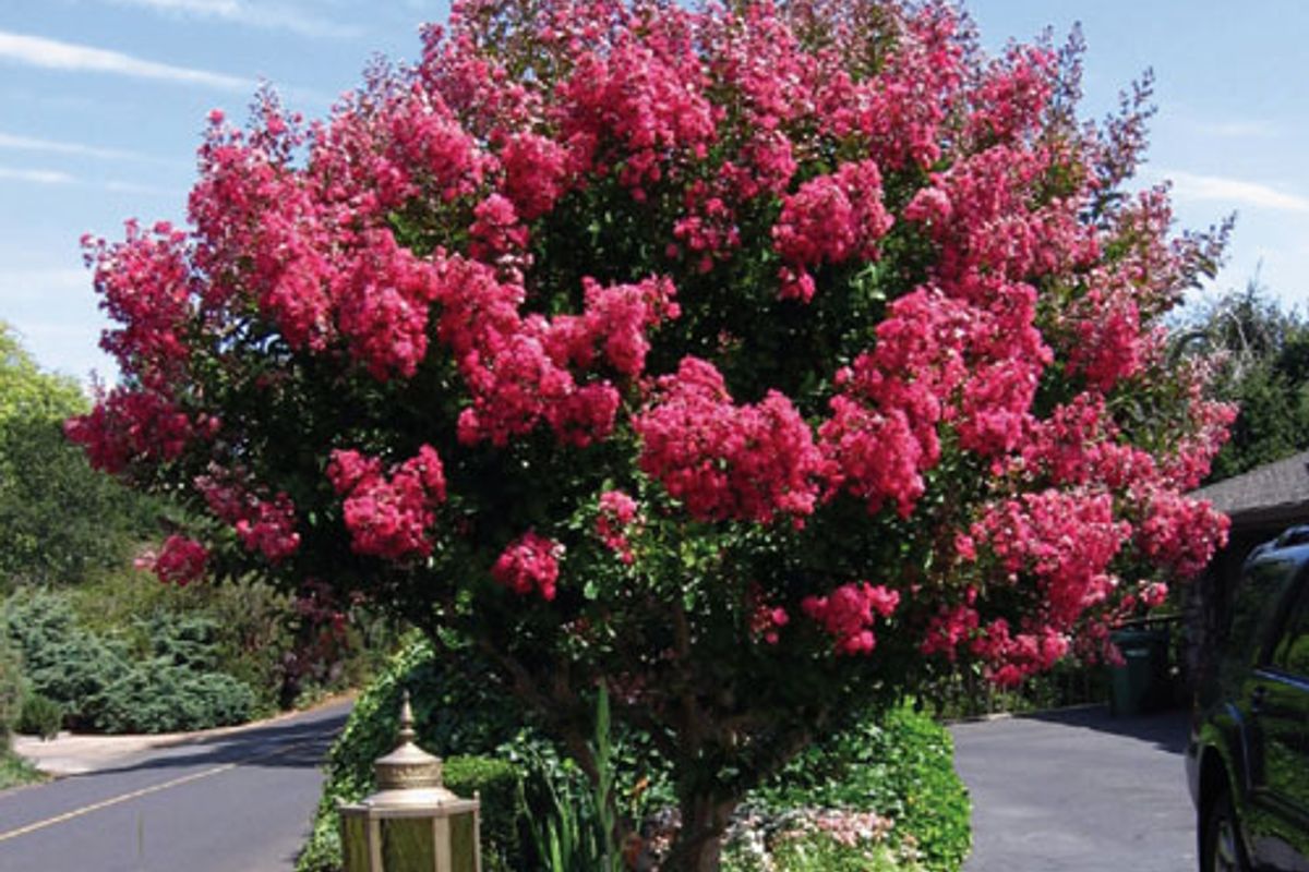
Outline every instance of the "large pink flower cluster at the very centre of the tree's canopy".
<path fill-rule="evenodd" d="M 814 511 L 822 455 L 791 401 L 770 391 L 736 405 L 723 375 L 685 357 L 632 420 L 641 469 L 699 520 L 800 522 Z"/>

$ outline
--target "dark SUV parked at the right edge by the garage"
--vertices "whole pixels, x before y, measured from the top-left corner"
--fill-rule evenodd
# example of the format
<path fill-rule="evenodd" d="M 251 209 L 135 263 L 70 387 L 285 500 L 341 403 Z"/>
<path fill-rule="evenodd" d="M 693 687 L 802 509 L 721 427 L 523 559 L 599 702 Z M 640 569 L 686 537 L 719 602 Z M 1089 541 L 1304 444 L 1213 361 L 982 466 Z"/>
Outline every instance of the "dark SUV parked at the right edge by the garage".
<path fill-rule="evenodd" d="M 1246 560 L 1186 750 L 1202 872 L 1309 871 L 1309 527 Z"/>

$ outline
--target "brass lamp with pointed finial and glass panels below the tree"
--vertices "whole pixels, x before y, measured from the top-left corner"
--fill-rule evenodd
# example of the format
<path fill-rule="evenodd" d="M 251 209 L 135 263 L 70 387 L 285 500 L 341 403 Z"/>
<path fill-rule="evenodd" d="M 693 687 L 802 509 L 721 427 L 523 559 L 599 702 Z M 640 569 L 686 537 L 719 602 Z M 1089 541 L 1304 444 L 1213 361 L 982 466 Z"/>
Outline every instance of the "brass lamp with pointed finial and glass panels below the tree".
<path fill-rule="evenodd" d="M 482 803 L 441 783 L 441 760 L 414 739 L 408 692 L 401 744 L 374 763 L 377 792 L 340 807 L 344 872 L 482 872 Z"/>

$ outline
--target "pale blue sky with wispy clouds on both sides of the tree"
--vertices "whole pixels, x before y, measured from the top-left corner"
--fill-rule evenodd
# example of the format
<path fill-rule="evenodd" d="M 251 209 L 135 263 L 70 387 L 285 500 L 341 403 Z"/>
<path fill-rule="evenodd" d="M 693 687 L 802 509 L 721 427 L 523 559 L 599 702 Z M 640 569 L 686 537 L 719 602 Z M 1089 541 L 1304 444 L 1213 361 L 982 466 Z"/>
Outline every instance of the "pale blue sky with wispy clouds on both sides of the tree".
<path fill-rule="evenodd" d="M 1300 0 L 975 0 L 990 50 L 1080 21 L 1084 114 L 1151 67 L 1145 180 L 1170 178 L 1182 226 L 1238 213 L 1215 288 L 1309 299 L 1309 4 Z M 82 233 L 183 217 L 206 114 L 243 118 L 259 80 L 308 115 L 382 52 L 412 59 L 444 0 L 10 0 L 0 4 L 0 320 L 38 362 L 113 379 Z M 1262 267 L 1261 267 L 1262 264 Z"/>

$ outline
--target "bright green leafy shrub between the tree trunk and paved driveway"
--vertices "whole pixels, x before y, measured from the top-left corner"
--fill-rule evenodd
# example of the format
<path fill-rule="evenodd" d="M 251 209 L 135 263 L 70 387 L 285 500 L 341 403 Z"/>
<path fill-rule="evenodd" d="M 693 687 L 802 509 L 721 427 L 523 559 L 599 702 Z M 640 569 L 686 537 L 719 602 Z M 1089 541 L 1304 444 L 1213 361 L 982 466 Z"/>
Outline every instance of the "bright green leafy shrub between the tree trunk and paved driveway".
<path fill-rule="evenodd" d="M 867 718 L 810 748 L 749 803 L 876 812 L 894 822 L 891 846 L 915 847 L 929 872 L 956 872 L 973 842 L 954 743 L 944 727 L 908 707 Z"/>

